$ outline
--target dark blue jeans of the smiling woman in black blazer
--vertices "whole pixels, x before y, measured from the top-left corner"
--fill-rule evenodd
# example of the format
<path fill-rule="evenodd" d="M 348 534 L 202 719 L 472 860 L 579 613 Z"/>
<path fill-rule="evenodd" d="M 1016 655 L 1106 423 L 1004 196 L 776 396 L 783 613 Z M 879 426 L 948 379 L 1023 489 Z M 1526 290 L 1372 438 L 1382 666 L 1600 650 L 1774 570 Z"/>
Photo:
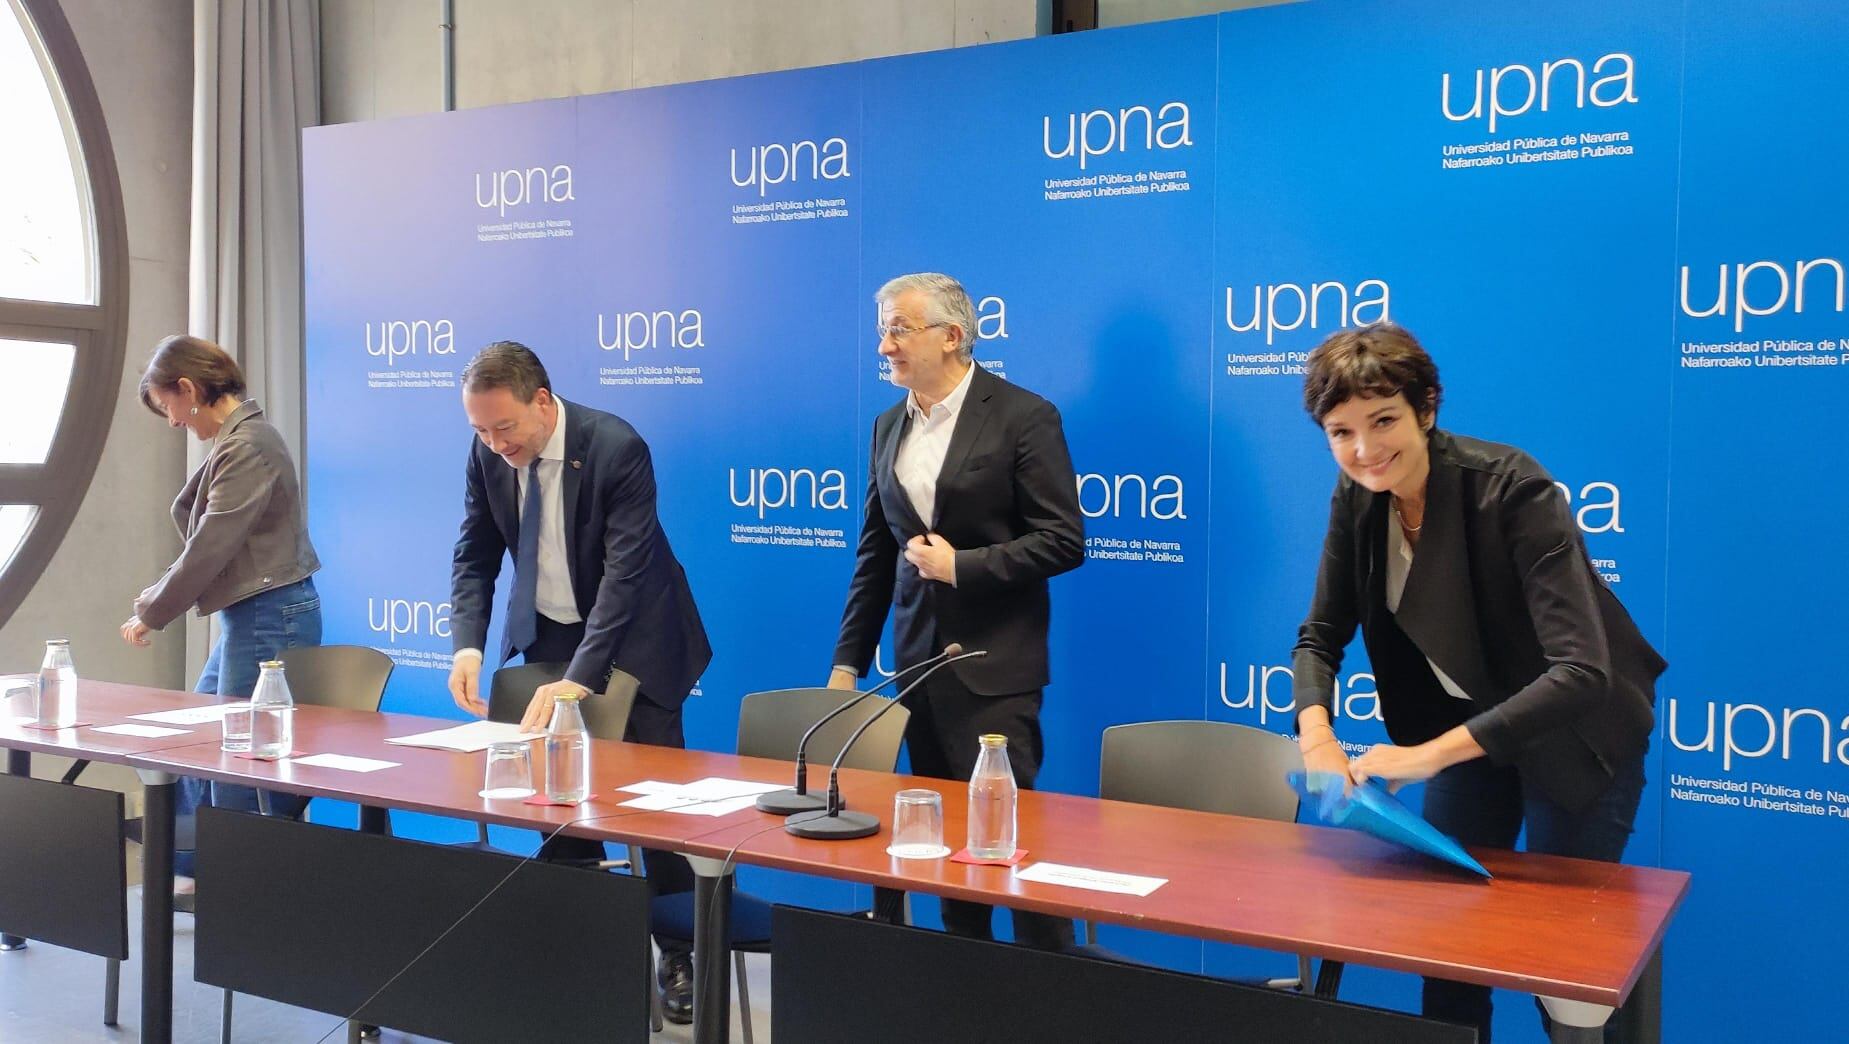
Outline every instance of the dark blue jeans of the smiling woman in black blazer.
<path fill-rule="evenodd" d="M 1573 859 L 1618 863 L 1631 839 L 1636 806 L 1644 796 L 1644 758 L 1622 765 L 1586 809 L 1568 811 L 1522 782 L 1512 765 L 1488 758 L 1463 761 L 1426 783 L 1426 820 L 1464 844 L 1514 848 L 1527 826 L 1527 850 Z M 1490 1040 L 1490 989 L 1450 979 L 1426 979 L 1420 1009 L 1427 1016 L 1477 1027 L 1477 1042 Z M 1548 1013 L 1540 1014 L 1542 1024 Z M 1618 1018 L 1607 1024 L 1607 1037 Z"/>

